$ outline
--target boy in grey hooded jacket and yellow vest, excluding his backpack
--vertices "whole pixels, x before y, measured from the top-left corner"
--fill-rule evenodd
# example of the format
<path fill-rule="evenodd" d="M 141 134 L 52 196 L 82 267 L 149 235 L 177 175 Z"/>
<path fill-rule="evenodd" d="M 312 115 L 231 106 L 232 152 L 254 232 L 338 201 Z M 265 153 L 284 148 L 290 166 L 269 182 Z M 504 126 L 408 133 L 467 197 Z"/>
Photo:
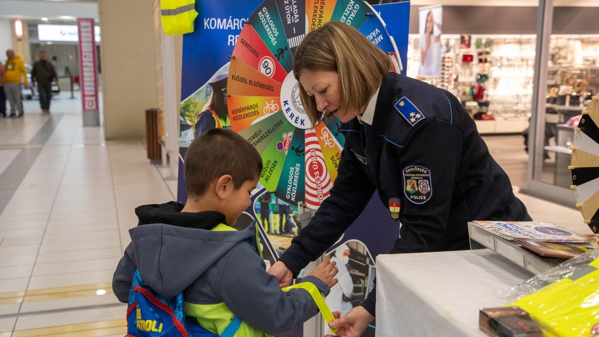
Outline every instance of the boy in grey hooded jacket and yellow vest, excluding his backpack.
<path fill-rule="evenodd" d="M 204 329 L 222 334 L 234 315 L 243 320 L 235 336 L 277 335 L 317 312 L 302 289 L 283 293 L 256 254 L 256 228 L 229 226 L 251 204 L 262 159 L 238 134 L 205 131 L 185 154 L 187 203 L 140 206 L 132 242 L 113 277 L 114 294 L 127 302 L 136 269 L 165 297 L 183 292 L 185 314 Z M 246 240 L 253 242 L 250 245 Z M 337 283 L 334 263 L 324 262 L 303 281 L 328 294 Z"/>

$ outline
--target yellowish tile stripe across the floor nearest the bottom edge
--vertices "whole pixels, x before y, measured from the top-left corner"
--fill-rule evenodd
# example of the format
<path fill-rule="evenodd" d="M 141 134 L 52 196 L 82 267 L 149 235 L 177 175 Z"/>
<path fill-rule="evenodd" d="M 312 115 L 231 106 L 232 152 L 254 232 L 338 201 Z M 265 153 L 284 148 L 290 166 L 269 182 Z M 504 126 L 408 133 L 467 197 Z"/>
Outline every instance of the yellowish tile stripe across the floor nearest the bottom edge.
<path fill-rule="evenodd" d="M 13 332 L 13 337 L 31 337 L 31 336 L 108 336 L 119 335 L 127 332 L 127 320 L 119 318 L 118 320 L 99 321 L 81 324 L 69 324 L 63 326 L 41 327 L 38 329 L 17 330 Z M 4 337 L 1 336 L 0 337 Z"/>

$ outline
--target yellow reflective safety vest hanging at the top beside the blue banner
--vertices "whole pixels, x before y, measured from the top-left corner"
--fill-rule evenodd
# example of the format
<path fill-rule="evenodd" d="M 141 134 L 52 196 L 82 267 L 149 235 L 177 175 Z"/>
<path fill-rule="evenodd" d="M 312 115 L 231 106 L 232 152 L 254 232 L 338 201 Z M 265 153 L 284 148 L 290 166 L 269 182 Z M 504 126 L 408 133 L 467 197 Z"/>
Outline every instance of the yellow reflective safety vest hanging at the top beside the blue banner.
<path fill-rule="evenodd" d="M 160 9 L 164 34 L 179 35 L 193 32 L 193 20 L 198 16 L 195 0 L 161 0 Z"/>

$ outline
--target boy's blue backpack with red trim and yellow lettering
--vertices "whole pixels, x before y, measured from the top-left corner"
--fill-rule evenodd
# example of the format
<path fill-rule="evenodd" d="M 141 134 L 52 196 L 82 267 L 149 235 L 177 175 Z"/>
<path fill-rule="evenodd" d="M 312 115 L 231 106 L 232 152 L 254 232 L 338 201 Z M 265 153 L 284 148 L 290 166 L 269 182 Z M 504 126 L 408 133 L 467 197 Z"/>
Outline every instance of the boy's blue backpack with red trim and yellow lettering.
<path fill-rule="evenodd" d="M 235 316 L 220 337 L 232 337 L 240 326 L 241 318 Z M 129 291 L 125 337 L 158 336 L 219 337 L 185 319 L 183 293 L 173 299 L 161 296 L 141 279 L 140 271 L 135 270 Z"/>

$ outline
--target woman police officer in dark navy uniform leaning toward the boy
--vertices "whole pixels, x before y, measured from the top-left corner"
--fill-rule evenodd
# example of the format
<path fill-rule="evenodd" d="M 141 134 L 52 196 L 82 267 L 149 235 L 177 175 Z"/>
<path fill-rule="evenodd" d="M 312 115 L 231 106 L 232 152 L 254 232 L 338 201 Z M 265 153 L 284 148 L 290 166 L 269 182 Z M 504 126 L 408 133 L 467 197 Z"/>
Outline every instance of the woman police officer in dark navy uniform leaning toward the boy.
<path fill-rule="evenodd" d="M 329 22 L 310 32 L 294 74 L 313 124 L 337 116 L 346 140 L 331 195 L 268 270 L 282 286 L 343 234 L 375 189 L 402 224 L 391 253 L 468 249 L 473 219 L 531 220 L 459 101 L 392 73 L 388 56 L 356 29 Z M 371 291 L 331 326 L 361 335 L 375 301 Z"/>

